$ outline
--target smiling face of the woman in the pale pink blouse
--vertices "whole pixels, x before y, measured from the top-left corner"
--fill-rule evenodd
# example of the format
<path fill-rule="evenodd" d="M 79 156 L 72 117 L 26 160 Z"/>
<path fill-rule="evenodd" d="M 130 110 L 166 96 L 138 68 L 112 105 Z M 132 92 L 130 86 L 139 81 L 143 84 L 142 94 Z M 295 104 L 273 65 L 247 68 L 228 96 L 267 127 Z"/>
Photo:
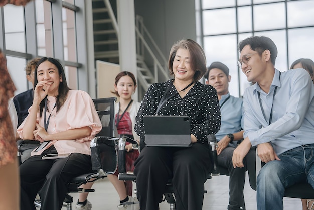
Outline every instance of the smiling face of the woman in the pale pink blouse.
<path fill-rule="evenodd" d="M 47 82 L 46 88 L 49 88 L 48 96 L 57 96 L 62 77 L 59 74 L 57 66 L 46 60 L 37 68 L 37 81 Z"/>

